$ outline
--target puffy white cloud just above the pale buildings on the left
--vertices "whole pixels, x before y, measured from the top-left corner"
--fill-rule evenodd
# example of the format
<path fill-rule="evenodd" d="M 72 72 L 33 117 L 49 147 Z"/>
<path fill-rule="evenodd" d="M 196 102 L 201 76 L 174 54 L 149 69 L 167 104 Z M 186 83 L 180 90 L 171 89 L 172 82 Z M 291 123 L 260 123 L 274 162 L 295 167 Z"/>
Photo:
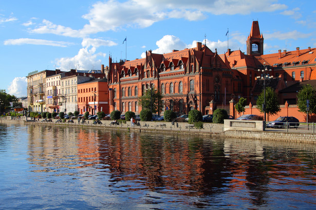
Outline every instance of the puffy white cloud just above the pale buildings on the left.
<path fill-rule="evenodd" d="M 101 68 L 101 60 L 97 60 L 98 56 L 105 57 L 105 53 L 96 53 L 96 48 L 91 49 L 82 48 L 79 50 L 78 54 L 72 58 L 61 58 L 57 59 L 57 65 L 59 65 L 62 71 L 68 71 L 70 69 L 79 70 L 90 70 Z"/>

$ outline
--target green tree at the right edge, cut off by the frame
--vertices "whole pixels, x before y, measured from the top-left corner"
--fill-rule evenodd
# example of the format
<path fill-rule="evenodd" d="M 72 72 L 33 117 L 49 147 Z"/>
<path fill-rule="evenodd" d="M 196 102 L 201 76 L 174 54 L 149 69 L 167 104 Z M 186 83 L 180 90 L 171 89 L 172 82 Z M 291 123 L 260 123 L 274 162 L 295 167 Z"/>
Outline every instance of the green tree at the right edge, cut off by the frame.
<path fill-rule="evenodd" d="M 316 90 L 309 84 L 303 86 L 298 92 L 298 107 L 300 112 L 306 112 L 307 100 L 309 100 L 309 113 L 316 113 Z"/>

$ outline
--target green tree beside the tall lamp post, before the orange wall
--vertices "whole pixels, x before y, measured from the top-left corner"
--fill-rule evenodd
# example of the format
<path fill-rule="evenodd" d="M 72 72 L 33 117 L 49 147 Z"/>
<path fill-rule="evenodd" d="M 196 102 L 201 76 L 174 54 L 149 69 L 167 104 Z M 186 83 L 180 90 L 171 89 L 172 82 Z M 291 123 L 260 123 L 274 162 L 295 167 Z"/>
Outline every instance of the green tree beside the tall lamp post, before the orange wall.
<path fill-rule="evenodd" d="M 264 91 L 259 95 L 257 100 L 257 109 L 260 110 L 261 113 L 264 113 L 263 109 L 264 104 Z M 277 112 L 281 111 L 280 104 L 278 102 L 278 98 L 276 96 L 275 91 L 271 87 L 266 88 L 266 113 L 274 115 Z"/>

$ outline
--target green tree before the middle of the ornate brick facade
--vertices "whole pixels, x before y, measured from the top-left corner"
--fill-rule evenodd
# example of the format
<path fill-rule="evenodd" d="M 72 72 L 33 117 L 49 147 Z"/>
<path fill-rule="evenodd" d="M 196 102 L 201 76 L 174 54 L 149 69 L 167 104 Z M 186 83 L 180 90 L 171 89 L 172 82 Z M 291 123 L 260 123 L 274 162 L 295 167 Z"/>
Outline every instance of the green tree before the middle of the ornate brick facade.
<path fill-rule="evenodd" d="M 156 88 L 151 88 L 139 98 L 139 103 L 142 110 L 151 110 L 152 113 L 157 113 L 162 109 L 162 95 Z"/>

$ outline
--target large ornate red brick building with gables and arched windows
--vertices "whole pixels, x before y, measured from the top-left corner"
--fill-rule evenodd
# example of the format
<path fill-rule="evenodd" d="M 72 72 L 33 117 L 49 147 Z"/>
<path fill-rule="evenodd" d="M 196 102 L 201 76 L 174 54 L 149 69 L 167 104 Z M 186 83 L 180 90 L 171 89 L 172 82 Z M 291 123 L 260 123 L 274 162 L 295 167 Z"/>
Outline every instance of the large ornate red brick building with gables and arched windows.
<path fill-rule="evenodd" d="M 166 109 L 205 113 L 211 100 L 228 105 L 230 97 L 225 96 L 241 88 L 241 80 L 224 61 L 202 43 L 166 54 L 147 51 L 146 58 L 124 63 L 112 63 L 109 58 L 109 111 L 139 113 L 138 99 L 150 87 L 163 94 L 164 108 L 159 113 Z"/>

